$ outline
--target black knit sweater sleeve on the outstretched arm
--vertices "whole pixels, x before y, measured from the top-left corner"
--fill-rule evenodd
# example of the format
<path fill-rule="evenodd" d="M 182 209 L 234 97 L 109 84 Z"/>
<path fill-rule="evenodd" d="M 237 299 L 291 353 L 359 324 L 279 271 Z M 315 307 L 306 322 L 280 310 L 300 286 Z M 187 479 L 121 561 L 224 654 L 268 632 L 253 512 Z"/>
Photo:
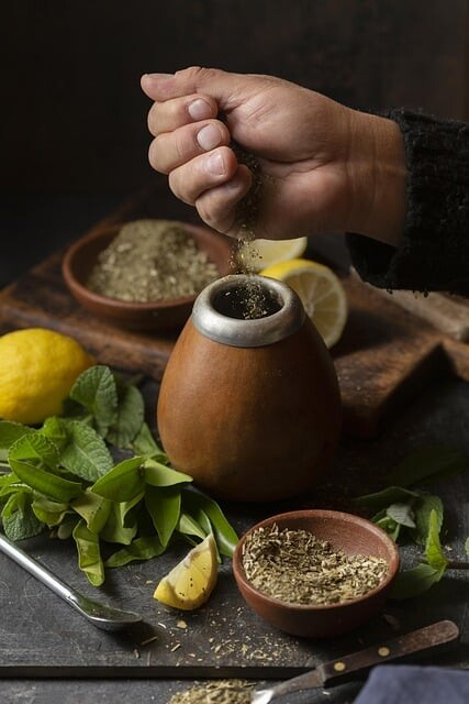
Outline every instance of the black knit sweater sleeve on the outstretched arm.
<path fill-rule="evenodd" d="M 348 234 L 351 262 L 379 288 L 469 296 L 469 124 L 392 110 L 403 134 L 407 213 L 399 249 Z"/>

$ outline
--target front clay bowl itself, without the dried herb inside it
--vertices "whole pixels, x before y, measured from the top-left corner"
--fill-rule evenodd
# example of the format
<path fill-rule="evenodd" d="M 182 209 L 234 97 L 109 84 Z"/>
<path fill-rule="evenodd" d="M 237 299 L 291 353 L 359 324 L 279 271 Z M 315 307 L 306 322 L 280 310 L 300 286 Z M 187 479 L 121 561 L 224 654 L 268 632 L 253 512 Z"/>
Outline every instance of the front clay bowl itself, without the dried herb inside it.
<path fill-rule="evenodd" d="M 330 541 L 346 554 L 383 558 L 389 570 L 384 580 L 365 596 L 327 606 L 289 604 L 257 591 L 243 569 L 246 537 L 259 527 L 277 524 L 279 529 L 309 530 L 320 540 Z M 253 526 L 238 541 L 233 557 L 233 573 L 247 604 L 266 622 L 293 636 L 328 638 L 349 631 L 375 616 L 384 605 L 399 571 L 399 550 L 389 536 L 375 524 L 351 514 L 334 510 L 298 510 L 271 516 Z"/>

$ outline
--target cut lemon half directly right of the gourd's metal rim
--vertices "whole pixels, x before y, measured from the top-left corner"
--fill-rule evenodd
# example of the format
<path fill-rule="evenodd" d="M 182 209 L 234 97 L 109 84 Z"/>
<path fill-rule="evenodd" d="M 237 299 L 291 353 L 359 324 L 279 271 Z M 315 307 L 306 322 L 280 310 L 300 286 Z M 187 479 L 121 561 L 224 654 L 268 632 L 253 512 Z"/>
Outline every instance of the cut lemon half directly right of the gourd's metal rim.
<path fill-rule="evenodd" d="M 339 279 L 328 266 L 294 258 L 273 264 L 260 273 L 284 282 L 297 292 L 327 348 L 339 340 L 347 320 L 347 298 Z"/>

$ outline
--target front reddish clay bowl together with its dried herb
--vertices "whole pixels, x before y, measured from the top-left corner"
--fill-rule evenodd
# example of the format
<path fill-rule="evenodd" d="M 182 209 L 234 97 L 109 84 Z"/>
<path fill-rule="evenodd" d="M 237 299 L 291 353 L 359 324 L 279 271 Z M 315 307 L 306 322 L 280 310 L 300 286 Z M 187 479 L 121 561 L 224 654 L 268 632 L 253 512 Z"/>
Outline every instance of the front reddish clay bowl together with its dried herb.
<path fill-rule="evenodd" d="M 239 540 L 233 572 L 247 604 L 294 636 L 349 631 L 383 607 L 399 550 L 375 524 L 342 512 L 271 516 Z"/>

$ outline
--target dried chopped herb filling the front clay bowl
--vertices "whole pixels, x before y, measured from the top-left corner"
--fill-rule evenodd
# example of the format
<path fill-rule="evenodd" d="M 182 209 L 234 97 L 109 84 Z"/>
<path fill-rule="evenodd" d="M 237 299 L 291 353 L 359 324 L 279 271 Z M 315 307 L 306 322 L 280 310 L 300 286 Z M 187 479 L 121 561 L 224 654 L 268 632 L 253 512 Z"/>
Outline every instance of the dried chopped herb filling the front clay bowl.
<path fill-rule="evenodd" d="M 375 556 L 347 556 L 303 529 L 276 524 L 248 534 L 243 544 L 246 578 L 259 592 L 291 604 L 337 604 L 377 587 L 388 563 Z"/>

